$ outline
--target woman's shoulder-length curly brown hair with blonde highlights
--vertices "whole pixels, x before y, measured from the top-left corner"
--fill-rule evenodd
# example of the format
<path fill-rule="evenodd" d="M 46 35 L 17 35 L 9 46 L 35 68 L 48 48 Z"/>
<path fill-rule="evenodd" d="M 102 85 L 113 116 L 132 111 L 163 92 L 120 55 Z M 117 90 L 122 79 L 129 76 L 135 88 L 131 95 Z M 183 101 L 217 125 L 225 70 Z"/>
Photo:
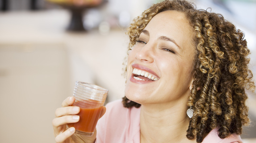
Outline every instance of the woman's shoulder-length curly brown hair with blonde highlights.
<path fill-rule="evenodd" d="M 127 28 L 129 49 L 136 44 L 141 31 L 158 13 L 176 10 L 185 14 L 195 29 L 194 80 L 188 106 L 194 110 L 186 137 L 197 142 L 203 135 L 220 126 L 218 135 L 242 134 L 242 125 L 249 125 L 248 98 L 245 89 L 255 90 L 244 34 L 221 14 L 196 7 L 184 0 L 165 0 L 152 5 L 133 20 Z M 125 70 L 126 71 L 126 70 Z M 197 90 L 200 87 L 200 90 Z M 123 97 L 124 107 L 140 107 L 139 103 Z"/>

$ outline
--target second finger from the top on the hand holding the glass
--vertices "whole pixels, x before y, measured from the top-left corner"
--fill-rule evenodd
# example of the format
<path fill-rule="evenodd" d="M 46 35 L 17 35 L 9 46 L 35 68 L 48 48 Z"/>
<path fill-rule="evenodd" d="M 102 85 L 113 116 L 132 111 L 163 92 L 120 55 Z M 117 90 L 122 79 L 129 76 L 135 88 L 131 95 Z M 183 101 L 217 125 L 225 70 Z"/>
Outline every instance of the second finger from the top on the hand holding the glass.
<path fill-rule="evenodd" d="M 61 117 L 65 115 L 76 115 L 80 112 L 80 107 L 78 106 L 67 106 L 67 107 L 61 107 L 57 108 L 55 111 L 56 117 Z"/>

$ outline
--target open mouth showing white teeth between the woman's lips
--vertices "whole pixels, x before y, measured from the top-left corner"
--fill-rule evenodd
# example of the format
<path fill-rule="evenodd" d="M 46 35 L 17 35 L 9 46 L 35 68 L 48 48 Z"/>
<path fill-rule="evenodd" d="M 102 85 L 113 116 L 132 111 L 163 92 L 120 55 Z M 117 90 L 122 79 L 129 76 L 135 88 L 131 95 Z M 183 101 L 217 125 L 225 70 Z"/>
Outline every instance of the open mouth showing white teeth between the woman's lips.
<path fill-rule="evenodd" d="M 155 75 L 146 71 L 138 70 L 136 68 L 133 69 L 132 76 L 134 79 L 141 80 L 141 81 L 157 81 L 158 80 L 158 77 L 156 77 Z"/>

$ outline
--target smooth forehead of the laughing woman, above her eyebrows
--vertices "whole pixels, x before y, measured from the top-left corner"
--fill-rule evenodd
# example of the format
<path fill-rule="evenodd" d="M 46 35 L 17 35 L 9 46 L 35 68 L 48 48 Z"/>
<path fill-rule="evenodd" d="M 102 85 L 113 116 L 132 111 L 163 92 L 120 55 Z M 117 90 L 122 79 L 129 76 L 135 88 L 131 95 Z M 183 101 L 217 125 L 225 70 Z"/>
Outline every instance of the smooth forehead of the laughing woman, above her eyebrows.
<path fill-rule="evenodd" d="M 195 31 L 184 13 L 174 10 L 163 11 L 155 15 L 144 28 L 150 37 L 161 36 L 174 39 L 178 45 L 184 47 L 193 43 Z M 145 33 L 143 33 L 145 34 Z"/>

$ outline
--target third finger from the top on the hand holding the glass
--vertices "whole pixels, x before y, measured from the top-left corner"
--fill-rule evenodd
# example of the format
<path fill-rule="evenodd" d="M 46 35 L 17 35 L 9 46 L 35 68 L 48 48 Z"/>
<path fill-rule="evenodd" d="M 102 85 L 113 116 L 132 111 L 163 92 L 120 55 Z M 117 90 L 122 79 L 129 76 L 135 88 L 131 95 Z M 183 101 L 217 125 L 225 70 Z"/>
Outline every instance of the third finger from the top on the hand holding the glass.
<path fill-rule="evenodd" d="M 58 118 L 54 118 L 52 121 L 53 124 L 53 130 L 59 131 L 59 126 L 67 124 L 67 123 L 76 123 L 78 122 L 80 117 L 78 115 L 68 115 L 68 116 L 62 116 Z"/>

